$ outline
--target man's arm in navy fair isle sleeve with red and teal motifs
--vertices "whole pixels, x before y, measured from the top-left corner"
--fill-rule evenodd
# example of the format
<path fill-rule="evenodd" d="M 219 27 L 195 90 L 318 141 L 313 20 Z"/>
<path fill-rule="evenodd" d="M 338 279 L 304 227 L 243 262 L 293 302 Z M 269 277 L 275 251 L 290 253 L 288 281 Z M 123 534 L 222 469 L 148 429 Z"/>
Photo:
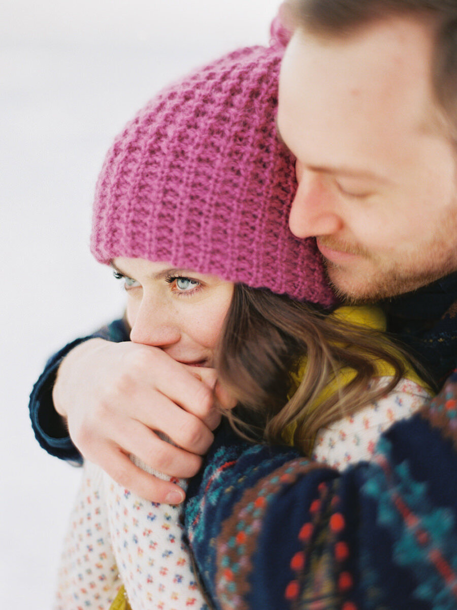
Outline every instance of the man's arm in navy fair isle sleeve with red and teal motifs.
<path fill-rule="evenodd" d="M 456 608 L 455 422 L 457 374 L 344 473 L 218 433 L 186 504 L 214 606 Z"/>

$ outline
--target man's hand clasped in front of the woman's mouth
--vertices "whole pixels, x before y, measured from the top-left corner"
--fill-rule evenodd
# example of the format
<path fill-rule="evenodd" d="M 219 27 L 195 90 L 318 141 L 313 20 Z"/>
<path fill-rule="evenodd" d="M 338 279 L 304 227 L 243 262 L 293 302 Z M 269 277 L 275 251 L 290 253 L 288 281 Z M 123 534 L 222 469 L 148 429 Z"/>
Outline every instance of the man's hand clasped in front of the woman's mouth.
<path fill-rule="evenodd" d="M 194 476 L 221 419 L 214 386 L 214 369 L 186 366 L 159 348 L 90 339 L 63 359 L 52 397 L 85 458 L 141 497 L 177 504 L 183 490 L 136 467 L 129 454 L 166 475 Z"/>

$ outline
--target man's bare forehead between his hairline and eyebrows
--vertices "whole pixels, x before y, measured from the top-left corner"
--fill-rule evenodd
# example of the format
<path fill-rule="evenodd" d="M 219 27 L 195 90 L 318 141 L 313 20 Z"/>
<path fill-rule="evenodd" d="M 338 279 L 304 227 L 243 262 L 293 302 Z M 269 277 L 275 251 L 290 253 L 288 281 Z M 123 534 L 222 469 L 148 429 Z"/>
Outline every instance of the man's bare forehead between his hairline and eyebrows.
<path fill-rule="evenodd" d="M 356 151 L 353 162 L 362 167 L 374 147 L 378 159 L 388 157 L 402 134 L 413 145 L 432 105 L 430 59 L 431 36 L 411 21 L 370 26 L 345 40 L 298 30 L 280 78 L 278 126 L 286 145 L 311 165 L 314 155 L 341 164 Z"/>

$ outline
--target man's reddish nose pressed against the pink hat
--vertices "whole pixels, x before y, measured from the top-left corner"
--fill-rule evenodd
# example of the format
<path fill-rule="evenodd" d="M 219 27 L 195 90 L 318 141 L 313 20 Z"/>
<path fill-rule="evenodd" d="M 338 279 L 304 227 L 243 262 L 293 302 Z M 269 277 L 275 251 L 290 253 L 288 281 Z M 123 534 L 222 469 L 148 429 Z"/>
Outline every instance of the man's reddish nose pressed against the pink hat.
<path fill-rule="evenodd" d="M 340 231 L 343 223 L 335 210 L 335 193 L 322 174 L 297 168 L 297 179 L 299 187 L 289 215 L 292 233 L 296 237 L 319 237 Z"/>

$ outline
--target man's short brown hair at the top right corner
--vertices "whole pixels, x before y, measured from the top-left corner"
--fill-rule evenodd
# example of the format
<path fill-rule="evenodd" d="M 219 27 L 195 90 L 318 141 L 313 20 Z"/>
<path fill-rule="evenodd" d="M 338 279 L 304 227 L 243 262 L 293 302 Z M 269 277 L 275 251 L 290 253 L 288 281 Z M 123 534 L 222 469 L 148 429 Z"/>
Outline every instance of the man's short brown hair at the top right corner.
<path fill-rule="evenodd" d="M 457 141 L 457 0 L 287 0 L 293 24 L 311 34 L 350 37 L 376 21 L 411 16 L 434 35 L 431 78 L 446 131 Z"/>

